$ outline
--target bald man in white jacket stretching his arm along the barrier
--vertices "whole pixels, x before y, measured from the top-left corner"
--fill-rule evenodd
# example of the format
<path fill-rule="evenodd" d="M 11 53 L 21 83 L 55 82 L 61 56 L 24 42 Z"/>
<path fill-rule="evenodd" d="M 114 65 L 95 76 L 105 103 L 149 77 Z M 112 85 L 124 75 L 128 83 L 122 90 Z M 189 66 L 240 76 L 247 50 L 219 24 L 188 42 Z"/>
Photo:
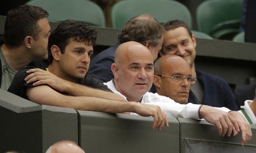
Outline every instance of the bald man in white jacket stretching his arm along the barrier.
<path fill-rule="evenodd" d="M 179 104 L 166 96 L 149 93 L 154 78 L 154 61 L 150 50 L 140 43 L 126 42 L 118 46 L 111 70 L 114 78 L 104 84 L 113 93 L 122 96 L 127 101 L 160 106 L 167 117 L 204 118 L 209 123 L 216 125 L 219 135 L 222 136 L 226 133 L 227 136 L 230 136 L 232 130 L 235 136 L 240 128 L 242 131 L 242 145 L 252 137 L 249 124 L 238 112 L 230 112 L 225 107 L 213 108 L 192 103 Z M 188 74 L 184 75 L 187 77 Z M 175 78 L 179 80 L 180 77 Z M 192 80 L 192 78 L 188 79 Z"/>

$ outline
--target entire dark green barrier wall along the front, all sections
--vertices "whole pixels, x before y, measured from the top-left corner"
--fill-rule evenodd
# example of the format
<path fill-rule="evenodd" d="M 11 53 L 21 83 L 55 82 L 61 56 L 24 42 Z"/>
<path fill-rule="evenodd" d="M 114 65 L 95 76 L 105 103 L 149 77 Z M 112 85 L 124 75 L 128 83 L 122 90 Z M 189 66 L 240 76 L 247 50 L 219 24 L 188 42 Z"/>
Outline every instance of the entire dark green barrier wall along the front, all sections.
<path fill-rule="evenodd" d="M 219 136 L 206 121 L 168 118 L 169 127 L 153 130 L 153 117 L 75 111 L 38 105 L 0 89 L 0 153 L 45 153 L 61 140 L 77 142 L 86 153 L 252 153 L 252 139 Z"/>

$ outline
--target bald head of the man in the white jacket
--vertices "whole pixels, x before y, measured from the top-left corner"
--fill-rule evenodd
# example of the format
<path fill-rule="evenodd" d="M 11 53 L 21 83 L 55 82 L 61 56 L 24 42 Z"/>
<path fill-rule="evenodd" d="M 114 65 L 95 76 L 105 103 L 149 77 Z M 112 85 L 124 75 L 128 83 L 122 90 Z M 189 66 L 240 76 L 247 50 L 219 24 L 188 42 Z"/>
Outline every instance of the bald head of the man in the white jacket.
<path fill-rule="evenodd" d="M 139 102 L 153 83 L 154 61 L 150 50 L 137 42 L 121 44 L 111 65 L 117 90 L 129 101 Z"/>

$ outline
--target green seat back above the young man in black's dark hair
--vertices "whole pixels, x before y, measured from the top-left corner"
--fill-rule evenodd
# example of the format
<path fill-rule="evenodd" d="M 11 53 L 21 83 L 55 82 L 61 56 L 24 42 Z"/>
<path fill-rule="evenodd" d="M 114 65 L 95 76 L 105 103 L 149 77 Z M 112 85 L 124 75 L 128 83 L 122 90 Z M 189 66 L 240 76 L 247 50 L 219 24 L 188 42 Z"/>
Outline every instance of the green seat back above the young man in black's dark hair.
<path fill-rule="evenodd" d="M 48 20 L 62 22 L 66 19 L 106 27 L 102 9 L 89 0 L 30 0 L 26 4 L 40 6 L 49 13 Z"/>

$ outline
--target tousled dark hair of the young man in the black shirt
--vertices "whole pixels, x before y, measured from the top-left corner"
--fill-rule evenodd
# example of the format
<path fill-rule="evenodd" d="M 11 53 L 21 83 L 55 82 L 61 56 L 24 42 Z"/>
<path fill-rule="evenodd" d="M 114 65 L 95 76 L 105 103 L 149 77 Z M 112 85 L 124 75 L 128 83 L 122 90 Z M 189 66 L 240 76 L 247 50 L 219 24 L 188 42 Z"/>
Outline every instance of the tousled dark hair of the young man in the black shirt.
<path fill-rule="evenodd" d="M 97 39 L 97 31 L 89 24 L 75 22 L 73 20 L 66 20 L 60 23 L 55 28 L 48 39 L 48 62 L 53 61 L 51 54 L 51 46 L 56 45 L 61 50 L 61 53 L 65 53 L 66 46 L 69 44 L 69 39 L 76 40 L 78 42 L 85 42 L 87 45 L 94 46 Z"/>

